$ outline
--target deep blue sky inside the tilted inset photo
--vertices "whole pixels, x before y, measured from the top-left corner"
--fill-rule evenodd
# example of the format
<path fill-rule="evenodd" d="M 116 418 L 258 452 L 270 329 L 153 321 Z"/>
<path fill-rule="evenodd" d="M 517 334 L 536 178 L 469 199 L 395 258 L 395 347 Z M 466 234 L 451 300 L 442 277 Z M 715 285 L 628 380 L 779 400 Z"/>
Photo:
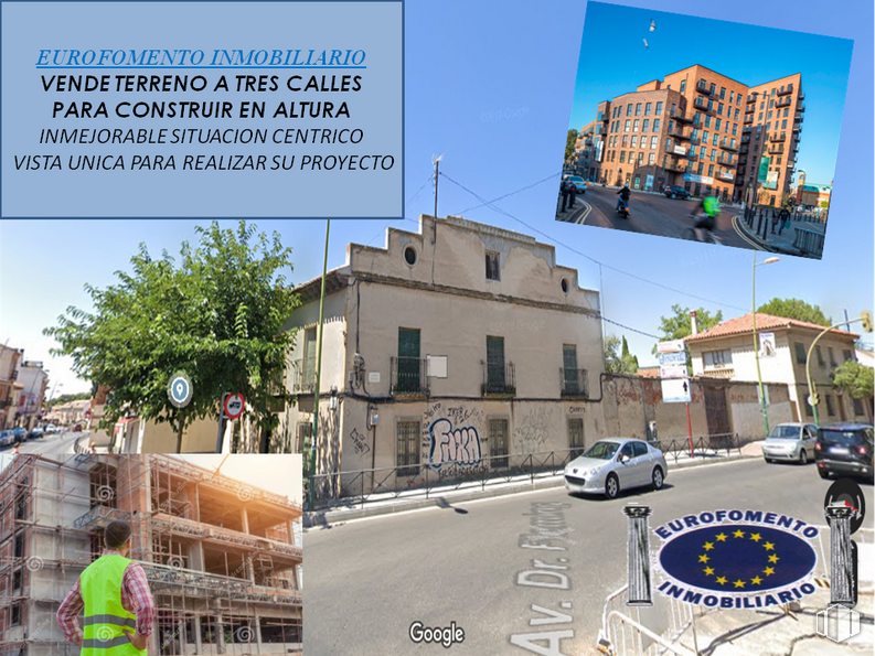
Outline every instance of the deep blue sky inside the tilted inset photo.
<path fill-rule="evenodd" d="M 651 20 L 657 24 L 653 32 Z M 809 182 L 829 184 L 839 151 L 853 41 L 736 20 L 590 2 L 569 127 L 579 130 L 594 120 L 600 101 L 694 64 L 750 87 L 801 73 L 805 114 L 798 169 L 805 170 Z M 679 47 L 680 43 L 686 45 Z"/>

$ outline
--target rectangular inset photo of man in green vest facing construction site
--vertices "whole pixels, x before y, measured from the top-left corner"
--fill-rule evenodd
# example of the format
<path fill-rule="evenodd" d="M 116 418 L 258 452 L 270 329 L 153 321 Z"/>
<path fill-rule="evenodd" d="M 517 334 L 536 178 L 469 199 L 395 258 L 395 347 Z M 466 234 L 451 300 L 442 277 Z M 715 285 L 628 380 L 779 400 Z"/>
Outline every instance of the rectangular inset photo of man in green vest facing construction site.
<path fill-rule="evenodd" d="M 300 455 L 0 455 L 0 656 L 302 654 Z"/>

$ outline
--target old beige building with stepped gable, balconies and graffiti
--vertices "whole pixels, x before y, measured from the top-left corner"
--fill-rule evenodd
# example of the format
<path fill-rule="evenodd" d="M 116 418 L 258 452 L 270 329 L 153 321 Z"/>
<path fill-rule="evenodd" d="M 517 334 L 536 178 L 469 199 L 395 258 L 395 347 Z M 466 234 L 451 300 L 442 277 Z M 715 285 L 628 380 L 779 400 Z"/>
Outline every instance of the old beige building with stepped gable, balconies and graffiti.
<path fill-rule="evenodd" d="M 297 450 L 313 419 L 320 283 L 298 288 L 288 324 Z M 350 244 L 326 294 L 316 471 L 331 494 L 503 472 L 604 434 L 599 295 L 552 246 L 422 216 L 383 248 Z M 341 475 L 372 469 L 366 483 Z"/>

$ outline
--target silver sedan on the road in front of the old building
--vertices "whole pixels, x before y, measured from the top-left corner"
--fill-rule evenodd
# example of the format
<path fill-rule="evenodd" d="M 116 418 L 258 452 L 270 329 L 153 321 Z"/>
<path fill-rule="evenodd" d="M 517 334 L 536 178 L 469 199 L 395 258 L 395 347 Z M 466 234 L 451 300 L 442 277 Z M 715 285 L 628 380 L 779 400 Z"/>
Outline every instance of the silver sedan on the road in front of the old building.
<path fill-rule="evenodd" d="M 655 447 L 642 440 L 606 438 L 565 466 L 565 490 L 617 498 L 620 490 L 648 485 L 661 490 L 668 472 L 665 456 Z"/>

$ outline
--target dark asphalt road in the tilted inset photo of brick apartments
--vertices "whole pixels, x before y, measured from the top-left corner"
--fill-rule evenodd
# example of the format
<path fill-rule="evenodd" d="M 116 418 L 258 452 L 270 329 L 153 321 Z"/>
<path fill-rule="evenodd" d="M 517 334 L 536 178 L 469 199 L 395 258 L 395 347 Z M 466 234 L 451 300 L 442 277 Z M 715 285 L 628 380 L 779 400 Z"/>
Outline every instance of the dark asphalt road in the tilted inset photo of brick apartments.
<path fill-rule="evenodd" d="M 593 185 L 585 194 L 577 196 L 574 212 L 558 215 L 558 219 L 676 239 L 681 239 L 683 232 L 693 226 L 690 214 L 695 209 L 697 201 L 632 192 L 629 198 L 629 218 L 621 218 L 616 212 L 617 197 L 617 190 Z M 734 217 L 733 212 L 724 211 L 717 217 L 714 234 L 723 239 L 725 246 L 759 250 L 759 247 L 741 235 Z"/>

